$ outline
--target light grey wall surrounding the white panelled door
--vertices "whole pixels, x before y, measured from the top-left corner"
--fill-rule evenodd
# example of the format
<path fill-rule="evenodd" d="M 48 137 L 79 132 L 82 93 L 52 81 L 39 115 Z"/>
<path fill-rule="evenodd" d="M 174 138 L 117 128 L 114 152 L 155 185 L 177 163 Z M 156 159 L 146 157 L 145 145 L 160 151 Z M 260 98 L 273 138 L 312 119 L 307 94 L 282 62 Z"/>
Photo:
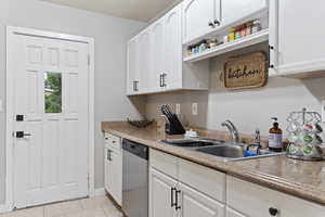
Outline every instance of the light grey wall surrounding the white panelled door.
<path fill-rule="evenodd" d="M 102 188 L 104 186 L 104 141 L 101 122 L 140 116 L 134 104 L 125 94 L 127 41 L 145 24 L 39 0 L 1 0 L 0 99 L 5 97 L 6 25 L 53 30 L 95 39 L 95 187 Z M 0 112 L 0 204 L 5 197 L 4 117 L 5 113 Z"/>

